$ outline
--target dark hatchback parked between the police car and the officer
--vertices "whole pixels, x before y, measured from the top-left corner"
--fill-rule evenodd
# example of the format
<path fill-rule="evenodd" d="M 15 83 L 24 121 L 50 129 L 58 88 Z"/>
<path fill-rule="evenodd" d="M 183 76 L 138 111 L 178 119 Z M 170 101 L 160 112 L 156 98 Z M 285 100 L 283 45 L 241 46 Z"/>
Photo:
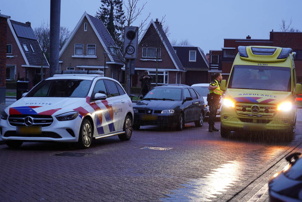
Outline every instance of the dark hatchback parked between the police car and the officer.
<path fill-rule="evenodd" d="M 133 105 L 133 128 L 141 125 L 173 126 L 182 130 L 185 123 L 201 127 L 207 109 L 204 99 L 190 86 L 157 86 Z"/>

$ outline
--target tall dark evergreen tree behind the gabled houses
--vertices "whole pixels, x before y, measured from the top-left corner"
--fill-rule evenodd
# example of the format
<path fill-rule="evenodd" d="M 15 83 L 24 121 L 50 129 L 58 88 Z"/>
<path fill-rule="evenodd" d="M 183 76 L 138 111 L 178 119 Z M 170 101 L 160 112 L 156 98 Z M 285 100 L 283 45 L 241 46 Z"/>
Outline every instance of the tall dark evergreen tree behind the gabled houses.
<path fill-rule="evenodd" d="M 123 46 L 123 26 L 125 20 L 123 0 L 100 0 L 101 6 L 95 17 L 101 19 L 118 47 Z"/>

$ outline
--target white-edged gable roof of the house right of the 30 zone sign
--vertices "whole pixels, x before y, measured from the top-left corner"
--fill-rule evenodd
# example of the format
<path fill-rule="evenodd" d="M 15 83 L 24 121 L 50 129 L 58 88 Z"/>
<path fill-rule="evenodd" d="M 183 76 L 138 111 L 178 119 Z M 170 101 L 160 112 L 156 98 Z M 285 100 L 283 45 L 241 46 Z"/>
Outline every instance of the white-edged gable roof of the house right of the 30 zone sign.
<path fill-rule="evenodd" d="M 146 34 L 147 30 L 149 29 L 151 24 L 153 24 L 154 28 L 156 29 L 157 33 L 159 34 L 159 37 L 162 40 L 162 43 L 164 44 L 170 58 L 172 59 L 172 62 L 175 65 L 175 68 L 178 69 L 179 71 L 185 72 L 185 68 L 182 66 L 182 63 L 180 62 L 179 58 L 175 54 L 175 51 L 174 51 L 167 35 L 165 34 L 164 30 L 162 29 L 161 24 L 155 23 L 151 19 L 151 21 L 150 21 L 149 25 L 147 26 L 144 34 L 140 37 L 140 40 L 138 41 L 138 44 L 140 44 L 140 42 L 142 41 L 143 37 L 145 36 L 145 34 Z"/>

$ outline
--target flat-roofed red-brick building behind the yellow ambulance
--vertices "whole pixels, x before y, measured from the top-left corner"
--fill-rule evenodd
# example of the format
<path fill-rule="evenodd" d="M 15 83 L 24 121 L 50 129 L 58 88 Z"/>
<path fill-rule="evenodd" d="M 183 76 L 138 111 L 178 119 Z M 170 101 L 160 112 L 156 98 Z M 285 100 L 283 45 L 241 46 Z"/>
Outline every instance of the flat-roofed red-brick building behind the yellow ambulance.
<path fill-rule="evenodd" d="M 302 83 L 302 32 L 270 32 L 269 39 L 252 39 L 247 36 L 245 39 L 224 39 L 222 52 L 222 74 L 223 79 L 228 79 L 230 70 L 238 53 L 238 46 L 277 46 L 290 47 L 297 54 L 294 57 L 297 82 Z M 210 62 L 210 67 L 211 67 Z"/>

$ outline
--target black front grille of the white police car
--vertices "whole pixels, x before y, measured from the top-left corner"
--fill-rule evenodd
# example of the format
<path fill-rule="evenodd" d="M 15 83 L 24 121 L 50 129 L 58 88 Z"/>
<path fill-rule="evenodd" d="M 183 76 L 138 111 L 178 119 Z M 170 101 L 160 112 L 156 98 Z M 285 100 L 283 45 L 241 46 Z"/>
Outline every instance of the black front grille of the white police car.
<path fill-rule="evenodd" d="M 35 126 L 50 126 L 53 123 L 53 117 L 49 115 L 33 115 L 33 114 L 18 114 L 10 115 L 8 117 L 8 122 L 13 126 L 25 125 L 24 120 L 27 116 L 32 117 L 33 124 Z"/>

